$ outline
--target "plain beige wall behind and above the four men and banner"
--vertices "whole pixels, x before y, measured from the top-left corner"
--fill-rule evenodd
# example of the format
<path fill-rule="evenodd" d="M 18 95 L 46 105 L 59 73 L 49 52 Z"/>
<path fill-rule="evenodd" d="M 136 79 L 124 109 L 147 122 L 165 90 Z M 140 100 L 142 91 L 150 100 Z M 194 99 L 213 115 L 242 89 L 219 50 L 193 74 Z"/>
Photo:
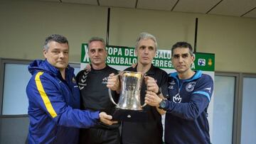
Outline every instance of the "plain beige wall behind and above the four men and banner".
<path fill-rule="evenodd" d="M 0 57 L 43 58 L 44 38 L 52 33 L 70 41 L 70 61 L 80 62 L 81 43 L 106 38 L 107 7 L 45 1 L 0 1 Z M 110 45 L 134 47 L 140 32 L 156 35 L 159 48 L 176 41 L 193 45 L 198 18 L 198 52 L 215 53 L 215 70 L 256 72 L 256 18 L 111 8 Z"/>

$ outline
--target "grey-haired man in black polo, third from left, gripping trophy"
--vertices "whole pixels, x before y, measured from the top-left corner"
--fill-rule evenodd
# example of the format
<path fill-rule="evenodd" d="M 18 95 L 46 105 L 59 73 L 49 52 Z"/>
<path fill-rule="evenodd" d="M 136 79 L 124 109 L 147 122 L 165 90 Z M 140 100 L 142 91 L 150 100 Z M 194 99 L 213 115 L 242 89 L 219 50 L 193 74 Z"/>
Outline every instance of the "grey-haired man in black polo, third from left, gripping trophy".
<path fill-rule="evenodd" d="M 159 87 L 166 84 L 167 74 L 164 70 L 154 67 L 151 64 L 156 55 L 156 38 L 149 33 L 141 33 L 135 45 L 135 52 L 138 57 L 136 67 L 128 67 L 125 71 L 143 72 L 146 74 L 141 89 L 141 103 L 147 91 L 159 93 Z M 154 80 L 154 79 L 156 80 Z M 156 87 L 156 84 L 158 87 Z M 107 87 L 112 90 L 119 90 L 119 82 L 114 75 L 110 75 Z M 161 114 L 163 110 L 155 106 L 144 106 L 148 118 L 144 122 L 122 122 L 122 143 L 123 144 L 161 144 L 163 128 L 161 124 Z"/>

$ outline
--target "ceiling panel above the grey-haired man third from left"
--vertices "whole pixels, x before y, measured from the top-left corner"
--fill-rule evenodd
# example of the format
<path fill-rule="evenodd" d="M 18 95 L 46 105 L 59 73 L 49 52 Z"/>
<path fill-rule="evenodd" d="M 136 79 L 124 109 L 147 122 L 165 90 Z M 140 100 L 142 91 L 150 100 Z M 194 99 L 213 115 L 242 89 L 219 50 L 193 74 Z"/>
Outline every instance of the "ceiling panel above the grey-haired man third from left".
<path fill-rule="evenodd" d="M 171 11 L 177 0 L 138 0 L 137 9 Z"/>

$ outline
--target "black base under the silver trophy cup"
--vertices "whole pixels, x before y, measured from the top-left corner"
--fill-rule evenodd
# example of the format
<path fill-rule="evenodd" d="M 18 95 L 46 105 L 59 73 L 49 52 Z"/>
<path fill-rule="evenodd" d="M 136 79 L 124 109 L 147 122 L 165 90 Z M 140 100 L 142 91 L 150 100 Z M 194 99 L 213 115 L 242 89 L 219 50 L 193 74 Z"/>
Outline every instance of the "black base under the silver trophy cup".
<path fill-rule="evenodd" d="M 114 121 L 131 121 L 131 122 L 146 122 L 148 121 L 148 114 L 143 110 L 129 110 L 129 109 L 114 109 L 112 114 Z"/>

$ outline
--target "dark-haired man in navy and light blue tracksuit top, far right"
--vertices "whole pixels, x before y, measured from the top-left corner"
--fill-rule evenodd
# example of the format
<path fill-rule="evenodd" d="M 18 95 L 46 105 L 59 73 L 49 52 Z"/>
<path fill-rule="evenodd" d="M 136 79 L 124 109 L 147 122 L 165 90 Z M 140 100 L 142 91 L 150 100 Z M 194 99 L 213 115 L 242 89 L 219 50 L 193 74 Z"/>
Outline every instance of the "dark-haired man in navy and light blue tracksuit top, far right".
<path fill-rule="evenodd" d="M 191 70 L 194 61 L 189 43 L 178 42 L 171 49 L 176 72 L 169 74 L 168 99 L 147 93 L 146 103 L 166 111 L 164 140 L 167 144 L 210 144 L 207 109 L 213 94 L 213 79 Z"/>

